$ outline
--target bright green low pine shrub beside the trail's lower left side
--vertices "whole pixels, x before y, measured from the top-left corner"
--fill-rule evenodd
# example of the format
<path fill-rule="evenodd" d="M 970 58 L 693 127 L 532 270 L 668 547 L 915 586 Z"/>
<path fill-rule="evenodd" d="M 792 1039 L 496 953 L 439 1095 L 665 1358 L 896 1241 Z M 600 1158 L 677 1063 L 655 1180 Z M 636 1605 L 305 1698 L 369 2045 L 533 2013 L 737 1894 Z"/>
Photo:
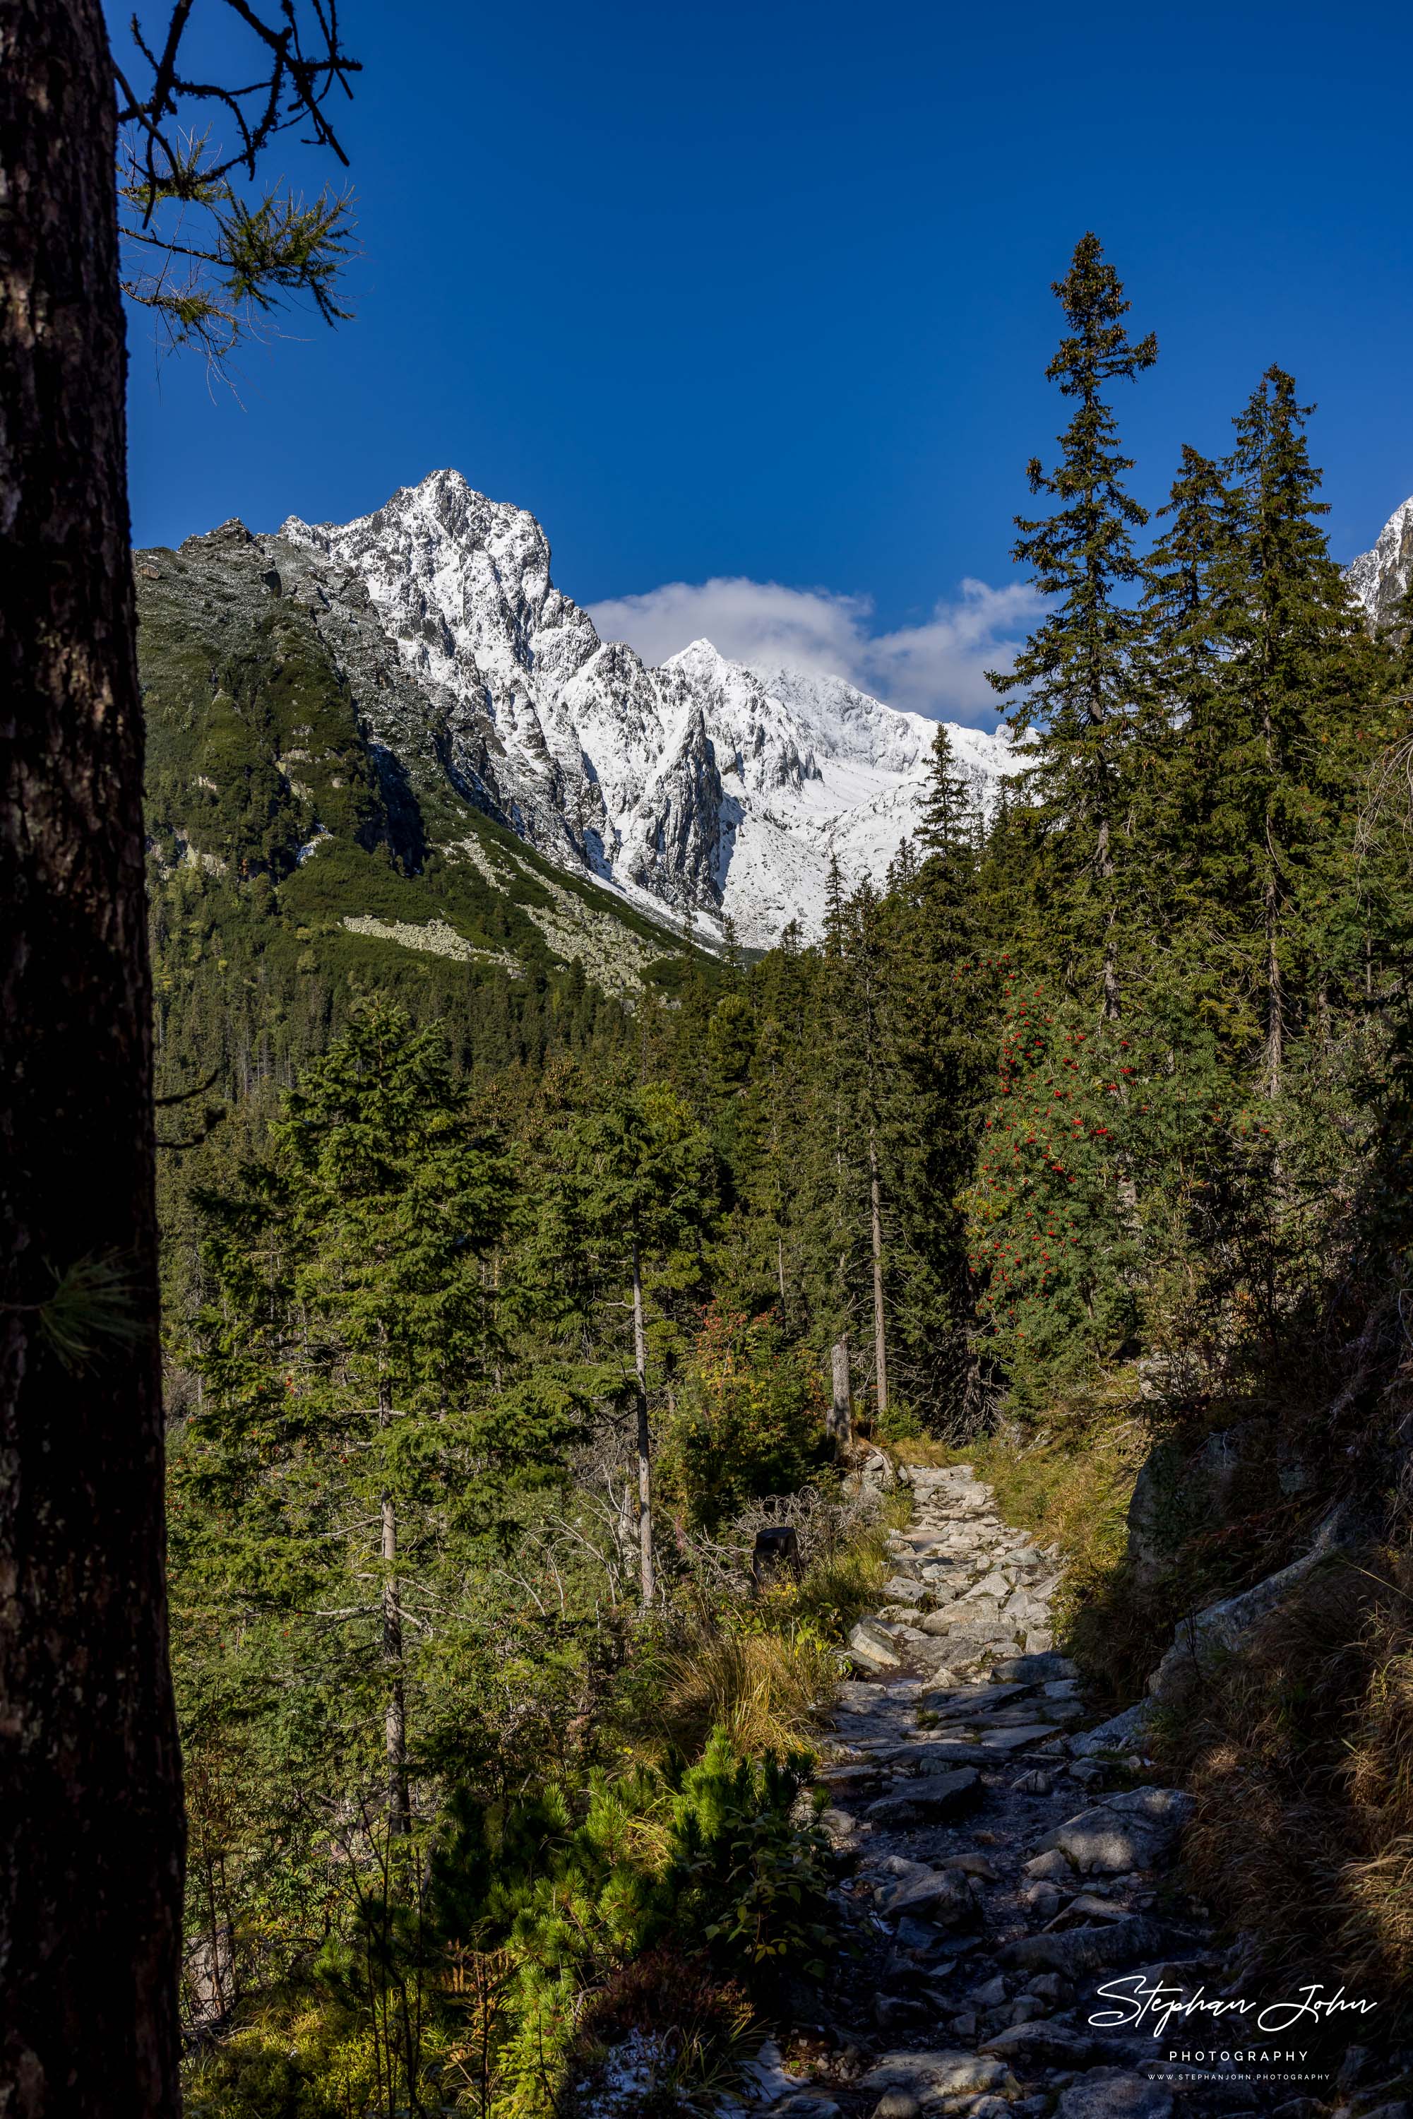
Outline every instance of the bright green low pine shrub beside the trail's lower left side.
<path fill-rule="evenodd" d="M 748 2005 L 820 1977 L 835 1928 L 828 1848 L 799 1814 L 809 1771 L 807 1752 L 744 1757 L 718 1727 L 684 1769 L 593 1771 L 511 1803 L 455 1793 L 432 1926 L 464 1975 L 466 2036 L 439 2062 L 466 2085 L 464 2108 L 559 2111 L 566 2083 L 644 2032 L 636 2066 L 657 2102 L 625 2108 L 667 2111 L 731 2062 Z M 682 1935 L 697 1971 L 672 1956 Z"/>

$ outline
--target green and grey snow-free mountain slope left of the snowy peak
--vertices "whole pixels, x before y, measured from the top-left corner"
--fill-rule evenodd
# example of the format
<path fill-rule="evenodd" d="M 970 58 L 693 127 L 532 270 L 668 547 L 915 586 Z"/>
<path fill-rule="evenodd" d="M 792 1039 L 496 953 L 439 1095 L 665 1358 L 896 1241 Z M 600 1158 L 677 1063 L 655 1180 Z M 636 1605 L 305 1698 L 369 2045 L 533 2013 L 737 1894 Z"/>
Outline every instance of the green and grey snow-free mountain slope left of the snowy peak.
<path fill-rule="evenodd" d="M 354 983 L 407 951 L 462 983 L 534 985 L 574 958 L 608 994 L 672 983 L 682 943 L 661 920 L 487 814 L 496 761 L 405 670 L 356 578 L 225 523 L 138 553 L 136 585 L 159 951 L 210 901 L 180 977 L 250 928 L 254 956 L 284 937 Z"/>

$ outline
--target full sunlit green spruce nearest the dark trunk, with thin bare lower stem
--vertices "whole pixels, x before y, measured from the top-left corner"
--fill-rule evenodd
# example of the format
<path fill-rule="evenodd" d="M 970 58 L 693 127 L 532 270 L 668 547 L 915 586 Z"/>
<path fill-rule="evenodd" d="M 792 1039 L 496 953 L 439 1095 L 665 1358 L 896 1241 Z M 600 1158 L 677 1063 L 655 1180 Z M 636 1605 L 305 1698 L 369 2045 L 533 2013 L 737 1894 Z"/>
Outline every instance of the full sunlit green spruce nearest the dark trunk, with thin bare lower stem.
<path fill-rule="evenodd" d="M 411 1829 L 407 1579 L 430 1517 L 504 1477 L 506 1445 L 544 1464 L 566 1439 L 564 1407 L 536 1422 L 491 1386 L 481 1261 L 511 1197 L 441 1038 L 373 1002 L 284 1098 L 269 1153 L 201 1201 L 205 1403 L 182 1479 L 244 1528 L 225 1551 L 216 1528 L 205 1564 L 256 1608 L 337 1621 L 354 1689 L 377 1636 L 394 1835 Z"/>

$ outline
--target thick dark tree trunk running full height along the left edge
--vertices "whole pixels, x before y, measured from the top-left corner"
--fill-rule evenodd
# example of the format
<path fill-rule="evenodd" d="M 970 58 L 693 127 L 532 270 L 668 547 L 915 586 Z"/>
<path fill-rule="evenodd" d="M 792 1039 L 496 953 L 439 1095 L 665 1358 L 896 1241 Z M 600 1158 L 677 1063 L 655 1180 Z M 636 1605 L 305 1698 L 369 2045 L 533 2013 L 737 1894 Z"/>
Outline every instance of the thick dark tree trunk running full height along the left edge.
<path fill-rule="evenodd" d="M 180 2108 L 142 723 L 97 0 L 0 0 L 0 2108 Z M 123 1274 L 66 1367 L 40 1307 Z M 70 1356 L 72 1360 L 72 1356 Z"/>

